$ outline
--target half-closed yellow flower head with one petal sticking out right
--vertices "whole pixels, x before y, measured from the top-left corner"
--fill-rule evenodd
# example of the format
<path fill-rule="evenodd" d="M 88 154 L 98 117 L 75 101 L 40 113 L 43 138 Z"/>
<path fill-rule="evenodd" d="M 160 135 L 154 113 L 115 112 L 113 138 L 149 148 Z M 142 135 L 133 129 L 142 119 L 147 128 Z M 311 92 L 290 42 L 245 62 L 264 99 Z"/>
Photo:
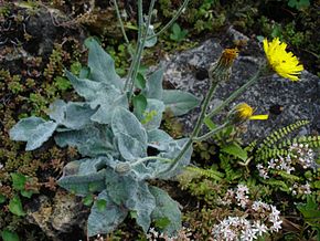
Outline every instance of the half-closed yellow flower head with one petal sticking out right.
<path fill-rule="evenodd" d="M 239 123 L 247 119 L 268 119 L 268 115 L 254 115 L 254 108 L 246 103 L 236 105 L 230 114 L 233 123 Z"/>

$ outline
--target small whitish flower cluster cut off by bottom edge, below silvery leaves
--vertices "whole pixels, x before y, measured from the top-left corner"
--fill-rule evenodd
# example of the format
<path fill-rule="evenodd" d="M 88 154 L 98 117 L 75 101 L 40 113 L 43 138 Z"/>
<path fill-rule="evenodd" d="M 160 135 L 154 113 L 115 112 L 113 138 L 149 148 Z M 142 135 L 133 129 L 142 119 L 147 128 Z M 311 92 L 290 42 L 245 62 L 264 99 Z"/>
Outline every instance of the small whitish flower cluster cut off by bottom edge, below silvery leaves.
<path fill-rule="evenodd" d="M 184 227 L 182 230 L 178 232 L 175 237 L 168 237 L 164 233 L 158 232 L 154 228 L 150 228 L 147 233 L 147 240 L 149 241 L 157 241 L 157 240 L 166 240 L 166 241 L 193 241 L 190 239 L 192 235 L 190 229 L 185 229 Z"/>

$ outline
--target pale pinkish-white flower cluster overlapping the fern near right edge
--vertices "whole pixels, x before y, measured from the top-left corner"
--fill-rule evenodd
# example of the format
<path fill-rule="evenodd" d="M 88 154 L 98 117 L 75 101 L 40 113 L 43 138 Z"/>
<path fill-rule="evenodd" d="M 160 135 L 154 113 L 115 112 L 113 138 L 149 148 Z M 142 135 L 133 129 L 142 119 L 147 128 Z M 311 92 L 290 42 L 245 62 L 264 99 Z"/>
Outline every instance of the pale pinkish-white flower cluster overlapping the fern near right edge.
<path fill-rule="evenodd" d="M 289 153 L 287 157 L 279 157 L 279 158 L 273 158 L 268 161 L 268 166 L 265 167 L 262 164 L 258 164 L 256 167 L 259 171 L 259 176 L 264 179 L 269 178 L 268 170 L 284 170 L 287 174 L 291 174 L 291 171 L 295 171 L 296 165 L 299 165 L 307 168 L 313 168 L 314 167 L 314 153 L 312 149 L 308 147 L 308 145 L 303 144 L 294 144 L 289 147 Z"/>

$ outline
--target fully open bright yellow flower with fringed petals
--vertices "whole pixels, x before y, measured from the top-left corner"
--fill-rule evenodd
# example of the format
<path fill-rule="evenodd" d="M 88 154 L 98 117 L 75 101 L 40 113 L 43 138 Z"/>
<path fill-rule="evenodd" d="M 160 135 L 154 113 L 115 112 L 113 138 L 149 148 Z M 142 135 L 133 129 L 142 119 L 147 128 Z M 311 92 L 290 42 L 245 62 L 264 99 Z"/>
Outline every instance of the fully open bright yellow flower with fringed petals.
<path fill-rule="evenodd" d="M 268 42 L 264 40 L 264 50 L 271 69 L 282 77 L 291 81 L 298 81 L 298 75 L 303 71 L 303 66 L 299 64 L 297 56 L 286 51 L 287 44 L 281 43 L 279 38 Z"/>

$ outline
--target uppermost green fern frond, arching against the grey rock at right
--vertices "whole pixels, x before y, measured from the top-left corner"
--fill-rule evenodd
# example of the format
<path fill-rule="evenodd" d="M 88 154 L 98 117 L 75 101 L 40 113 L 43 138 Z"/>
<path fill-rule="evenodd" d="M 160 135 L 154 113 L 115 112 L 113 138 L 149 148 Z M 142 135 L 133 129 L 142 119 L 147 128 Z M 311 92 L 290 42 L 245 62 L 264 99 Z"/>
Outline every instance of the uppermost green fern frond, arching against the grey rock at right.
<path fill-rule="evenodd" d="M 285 136 L 289 135 L 290 133 L 297 130 L 301 126 L 309 124 L 309 120 L 298 120 L 291 125 L 285 126 L 280 129 L 273 132 L 267 138 L 263 140 L 257 149 L 257 153 L 263 151 L 266 148 L 273 148 L 277 142 L 279 142 Z"/>

